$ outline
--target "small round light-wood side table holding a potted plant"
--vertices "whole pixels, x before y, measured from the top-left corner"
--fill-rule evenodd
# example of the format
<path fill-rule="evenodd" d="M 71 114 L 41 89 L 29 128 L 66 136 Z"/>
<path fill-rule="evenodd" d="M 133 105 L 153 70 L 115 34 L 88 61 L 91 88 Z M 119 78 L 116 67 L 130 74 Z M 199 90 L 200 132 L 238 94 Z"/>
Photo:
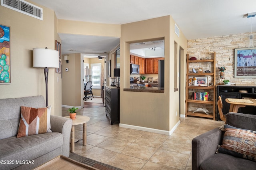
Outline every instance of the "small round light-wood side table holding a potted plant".
<path fill-rule="evenodd" d="M 69 118 L 69 116 L 65 116 Z M 76 115 L 76 119 L 72 119 L 72 128 L 71 128 L 71 151 L 75 152 L 75 125 L 83 124 L 83 146 L 86 146 L 86 123 L 89 122 L 90 118 L 88 116 Z"/>

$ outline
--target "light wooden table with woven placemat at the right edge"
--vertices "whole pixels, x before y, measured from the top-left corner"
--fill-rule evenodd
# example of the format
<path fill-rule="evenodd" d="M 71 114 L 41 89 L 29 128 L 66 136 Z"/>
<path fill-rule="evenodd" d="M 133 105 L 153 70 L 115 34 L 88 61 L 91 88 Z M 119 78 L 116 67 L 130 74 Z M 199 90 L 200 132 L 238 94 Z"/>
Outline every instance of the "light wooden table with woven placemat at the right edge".
<path fill-rule="evenodd" d="M 230 104 L 229 112 L 236 112 L 239 108 L 245 106 L 256 106 L 255 99 L 237 99 L 237 98 L 226 98 L 225 101 Z"/>

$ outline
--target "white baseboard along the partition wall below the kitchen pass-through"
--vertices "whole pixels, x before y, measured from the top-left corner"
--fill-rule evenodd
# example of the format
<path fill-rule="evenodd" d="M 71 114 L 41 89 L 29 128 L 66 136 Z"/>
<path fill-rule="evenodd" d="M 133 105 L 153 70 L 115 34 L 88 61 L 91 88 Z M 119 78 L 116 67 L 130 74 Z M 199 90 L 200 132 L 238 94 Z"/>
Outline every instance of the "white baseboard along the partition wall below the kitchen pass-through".
<path fill-rule="evenodd" d="M 176 125 L 170 131 L 160 130 L 160 129 L 153 129 L 153 128 L 146 128 L 146 127 L 142 127 L 142 126 L 134 126 L 134 125 L 122 124 L 122 123 L 119 124 L 119 127 L 135 129 L 135 130 L 142 130 L 142 131 L 153 132 L 153 133 L 158 133 L 158 134 L 171 135 L 174 132 L 174 130 L 179 126 L 179 124 L 180 124 L 180 120 L 176 123 Z"/>

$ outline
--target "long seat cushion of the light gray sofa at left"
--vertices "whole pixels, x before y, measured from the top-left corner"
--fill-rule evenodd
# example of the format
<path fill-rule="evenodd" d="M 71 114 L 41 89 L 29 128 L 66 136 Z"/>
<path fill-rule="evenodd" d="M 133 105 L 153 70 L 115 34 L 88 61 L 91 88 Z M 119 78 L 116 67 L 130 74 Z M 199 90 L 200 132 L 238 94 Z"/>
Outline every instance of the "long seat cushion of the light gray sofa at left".
<path fill-rule="evenodd" d="M 16 138 L 16 136 L 0 140 L 0 160 L 34 160 L 63 144 L 63 135 L 58 132 L 37 134 Z M 3 169 L 11 169 L 19 164 L 1 165 Z M 2 168 L 1 168 L 2 169 Z"/>

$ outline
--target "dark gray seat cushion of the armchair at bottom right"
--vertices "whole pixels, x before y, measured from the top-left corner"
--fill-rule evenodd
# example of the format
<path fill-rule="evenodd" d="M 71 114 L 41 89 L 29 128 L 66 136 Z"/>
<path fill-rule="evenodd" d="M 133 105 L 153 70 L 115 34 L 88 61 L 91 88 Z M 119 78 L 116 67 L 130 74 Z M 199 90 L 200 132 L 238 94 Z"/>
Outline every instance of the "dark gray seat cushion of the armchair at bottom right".
<path fill-rule="evenodd" d="M 228 154 L 215 154 L 204 160 L 200 170 L 255 170 L 256 162 Z"/>

